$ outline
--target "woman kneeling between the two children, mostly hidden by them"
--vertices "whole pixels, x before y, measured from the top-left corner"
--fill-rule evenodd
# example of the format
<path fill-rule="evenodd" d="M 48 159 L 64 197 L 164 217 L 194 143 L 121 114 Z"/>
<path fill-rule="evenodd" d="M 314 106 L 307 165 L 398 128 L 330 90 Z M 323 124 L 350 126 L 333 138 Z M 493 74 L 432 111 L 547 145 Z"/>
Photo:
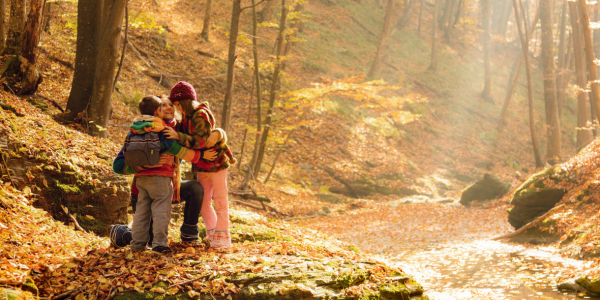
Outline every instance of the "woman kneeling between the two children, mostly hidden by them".
<path fill-rule="evenodd" d="M 163 120 L 165 123 L 177 130 L 179 122 L 175 116 L 175 109 L 173 103 L 167 97 L 161 97 L 163 102 Z M 205 160 L 212 161 L 216 157 L 215 151 L 205 151 L 203 158 Z M 131 187 L 131 207 L 133 213 L 136 210 L 138 190 L 135 184 L 136 177 L 134 177 L 133 184 Z M 177 180 L 175 182 L 177 184 Z M 200 218 L 200 209 L 202 208 L 202 200 L 204 195 L 204 189 L 202 185 L 196 180 L 182 180 L 179 188 L 180 201 L 185 202 L 183 209 L 183 224 L 181 225 L 181 241 L 188 243 L 199 242 L 198 238 L 198 221 Z M 174 199 L 175 200 L 175 199 Z M 152 223 L 150 223 L 150 241 L 148 245 L 152 245 Z M 115 248 L 125 247 L 131 243 L 131 228 L 128 225 L 110 225 L 109 226 L 109 237 L 111 246 Z"/>

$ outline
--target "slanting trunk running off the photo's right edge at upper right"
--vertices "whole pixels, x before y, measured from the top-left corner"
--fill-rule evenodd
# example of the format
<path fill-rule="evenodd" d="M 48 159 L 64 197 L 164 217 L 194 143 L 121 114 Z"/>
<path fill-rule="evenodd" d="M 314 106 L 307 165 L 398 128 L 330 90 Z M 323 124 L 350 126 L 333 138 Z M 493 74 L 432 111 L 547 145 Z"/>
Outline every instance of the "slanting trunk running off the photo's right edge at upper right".
<path fill-rule="evenodd" d="M 600 86 L 598 85 L 598 70 L 594 63 L 594 50 L 592 44 L 592 30 L 590 29 L 590 17 L 587 12 L 585 0 L 578 0 L 580 8 L 580 24 L 583 32 L 585 58 L 587 60 L 590 84 L 592 86 L 592 109 L 596 116 L 600 116 Z"/>

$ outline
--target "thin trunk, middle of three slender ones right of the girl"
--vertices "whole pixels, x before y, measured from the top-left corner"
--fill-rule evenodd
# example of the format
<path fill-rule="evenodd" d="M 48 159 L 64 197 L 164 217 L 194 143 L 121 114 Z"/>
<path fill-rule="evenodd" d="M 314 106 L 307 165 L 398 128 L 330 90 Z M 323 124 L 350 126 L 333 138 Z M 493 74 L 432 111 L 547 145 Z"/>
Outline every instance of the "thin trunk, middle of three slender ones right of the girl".
<path fill-rule="evenodd" d="M 241 189 L 244 190 L 250 181 L 250 176 L 253 176 L 256 172 L 256 159 L 258 157 L 258 150 L 260 148 L 260 136 L 262 132 L 262 104 L 261 95 L 262 88 L 260 84 L 260 69 L 258 63 L 258 43 L 256 37 L 258 35 L 258 18 L 256 16 L 255 1 L 252 0 L 252 55 L 254 57 L 254 80 L 256 80 L 256 140 L 254 142 L 254 151 L 252 151 L 252 159 L 248 165 L 248 172 L 244 178 Z"/>

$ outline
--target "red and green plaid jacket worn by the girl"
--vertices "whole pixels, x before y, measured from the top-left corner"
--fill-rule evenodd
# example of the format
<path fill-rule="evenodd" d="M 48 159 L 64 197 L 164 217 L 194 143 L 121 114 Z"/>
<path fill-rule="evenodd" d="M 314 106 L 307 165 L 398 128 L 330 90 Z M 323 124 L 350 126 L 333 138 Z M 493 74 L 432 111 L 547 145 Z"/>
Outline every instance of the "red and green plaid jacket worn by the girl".
<path fill-rule="evenodd" d="M 214 149 L 217 152 L 217 158 L 214 161 L 199 160 L 193 162 L 195 169 L 199 172 L 218 172 L 229 168 L 236 159 L 233 157 L 227 140 L 218 142 L 211 148 L 206 148 L 206 141 L 211 132 L 219 130 L 221 136 L 225 136 L 220 128 L 215 128 L 215 117 L 213 116 L 208 102 L 202 102 L 190 118 L 185 118 L 182 122 L 182 130 L 179 132 L 179 143 L 190 149 Z"/>

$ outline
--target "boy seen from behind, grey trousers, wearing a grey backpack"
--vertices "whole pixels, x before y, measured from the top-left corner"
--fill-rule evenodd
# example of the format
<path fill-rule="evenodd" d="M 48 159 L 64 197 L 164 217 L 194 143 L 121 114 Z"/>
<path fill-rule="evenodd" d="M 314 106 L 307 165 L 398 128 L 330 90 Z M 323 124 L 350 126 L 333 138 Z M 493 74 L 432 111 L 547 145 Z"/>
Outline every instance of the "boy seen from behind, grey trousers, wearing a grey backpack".
<path fill-rule="evenodd" d="M 177 173 L 175 156 L 198 162 L 204 151 L 181 147 L 174 140 L 165 138 L 162 131 L 167 127 L 163 121 L 162 101 L 156 96 L 143 98 L 139 103 L 142 114 L 134 119 L 130 126 L 132 134 L 158 132 L 161 149 L 160 162 L 155 166 L 125 165 L 123 149 L 113 163 L 113 169 L 119 174 L 136 174 L 136 187 L 139 190 L 136 213 L 133 218 L 131 250 L 144 250 L 149 240 L 148 230 L 153 221 L 152 251 L 158 254 L 170 254 L 168 246 L 168 224 L 171 219 L 171 199 L 178 197 L 173 193 L 173 178 Z"/>

